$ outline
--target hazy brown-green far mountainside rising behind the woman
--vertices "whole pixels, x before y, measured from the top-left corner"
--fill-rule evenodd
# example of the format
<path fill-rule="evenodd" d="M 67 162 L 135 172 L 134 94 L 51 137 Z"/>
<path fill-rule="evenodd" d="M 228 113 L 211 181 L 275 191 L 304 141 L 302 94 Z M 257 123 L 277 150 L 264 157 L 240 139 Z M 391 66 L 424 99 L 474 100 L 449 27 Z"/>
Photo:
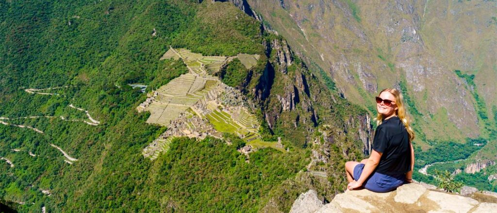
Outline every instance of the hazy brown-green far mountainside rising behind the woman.
<path fill-rule="evenodd" d="M 477 137 L 482 130 L 472 86 L 454 70 L 475 74 L 489 115 L 497 105 L 497 88 L 489 81 L 497 78 L 493 2 L 248 3 L 289 39 L 296 55 L 331 74 L 347 99 L 373 105 L 380 89 L 405 88 L 413 100 L 411 113 L 427 139 Z"/>

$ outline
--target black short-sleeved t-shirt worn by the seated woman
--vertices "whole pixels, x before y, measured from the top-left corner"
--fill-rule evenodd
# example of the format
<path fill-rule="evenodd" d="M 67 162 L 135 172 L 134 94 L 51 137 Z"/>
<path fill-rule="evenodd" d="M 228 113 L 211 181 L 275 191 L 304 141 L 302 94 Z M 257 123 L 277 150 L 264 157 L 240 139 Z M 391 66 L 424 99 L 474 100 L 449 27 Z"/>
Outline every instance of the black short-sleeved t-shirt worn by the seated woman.
<path fill-rule="evenodd" d="M 376 172 L 398 175 L 411 170 L 409 134 L 399 117 L 389 118 L 376 128 L 373 149 L 383 153 Z"/>

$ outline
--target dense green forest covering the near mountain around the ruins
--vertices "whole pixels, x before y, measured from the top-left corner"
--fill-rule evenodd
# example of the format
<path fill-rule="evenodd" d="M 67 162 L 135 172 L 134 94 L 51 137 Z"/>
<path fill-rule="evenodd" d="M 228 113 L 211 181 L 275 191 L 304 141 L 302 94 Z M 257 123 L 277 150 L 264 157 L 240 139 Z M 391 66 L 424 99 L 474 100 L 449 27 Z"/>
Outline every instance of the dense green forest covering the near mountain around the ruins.
<path fill-rule="evenodd" d="M 340 125 L 351 114 L 363 113 L 346 100 L 338 98 L 331 107 L 329 95 L 317 96 L 322 106 L 315 107 L 323 116 L 316 121 L 298 120 L 309 119 L 312 113 L 300 105 L 298 111 L 281 114 L 272 129 L 261 119 L 263 139 L 281 137 L 289 152 L 262 148 L 251 153 L 247 163 L 237 151 L 245 145 L 238 137 L 225 136 L 232 145 L 213 138 L 180 138 L 170 144 L 167 154 L 150 161 L 141 152 L 165 128 L 145 123 L 149 113 L 137 113 L 135 108 L 147 96 L 127 84 L 149 85 L 150 91 L 187 72 L 180 61 L 159 60 L 169 46 L 214 56 L 259 54 L 259 62 L 249 71 L 243 66 L 238 69 L 241 63 L 235 60 L 223 76 L 228 84 L 241 85 L 252 74 L 245 93 L 251 98 L 257 97 L 252 90 L 264 93 L 258 97 L 263 102 L 259 118 L 273 112 L 269 106 L 278 106 L 275 95 L 284 93 L 284 86 L 293 83 L 295 76 L 308 76 L 316 85 L 313 94 L 325 94 L 326 87 L 309 77 L 299 60 L 290 69 L 291 77 L 264 76 L 274 70 L 268 68 L 262 42 L 273 38 L 260 32 L 259 22 L 227 2 L 0 0 L 0 36 L 5 38 L 0 41 L 1 117 L 85 119 L 83 112 L 68 107 L 74 104 L 100 121 L 98 126 L 59 117 L 9 121 L 43 134 L 0 125 L 0 156 L 15 164 L 9 167 L 1 161 L 0 198 L 26 203 L 17 206 L 21 212 L 39 211 L 43 206 L 51 212 L 256 212 L 274 192 L 284 192 L 283 182 L 293 180 L 309 163 L 310 149 L 301 147 L 310 139 L 315 122 Z M 23 91 L 55 86 L 69 87 L 58 89 L 57 96 Z M 307 96 L 309 90 L 299 95 Z M 280 113 L 275 112 L 275 116 Z M 296 120 L 297 128 L 292 123 Z M 51 143 L 79 160 L 66 163 Z M 334 146 L 337 170 L 332 174 L 343 171 L 344 161 L 362 156 L 357 139 L 351 136 Z M 339 156 L 343 150 L 350 156 Z M 338 176 L 329 187 L 333 192 L 343 190 L 344 178 Z M 42 189 L 52 196 L 44 195 Z M 299 190 L 283 196 L 282 209 L 288 211 Z"/>

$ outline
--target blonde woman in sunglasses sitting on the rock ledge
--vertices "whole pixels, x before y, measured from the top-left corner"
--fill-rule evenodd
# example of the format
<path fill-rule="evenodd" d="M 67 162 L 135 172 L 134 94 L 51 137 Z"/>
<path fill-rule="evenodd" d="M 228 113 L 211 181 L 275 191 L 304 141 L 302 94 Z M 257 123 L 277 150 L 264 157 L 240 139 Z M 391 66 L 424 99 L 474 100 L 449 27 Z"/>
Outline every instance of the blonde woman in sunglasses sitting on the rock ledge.
<path fill-rule="evenodd" d="M 376 97 L 378 116 L 373 150 L 368 159 L 348 161 L 345 171 L 348 190 L 362 187 L 373 192 L 390 192 L 405 182 L 413 182 L 414 131 L 402 94 L 384 89 Z"/>

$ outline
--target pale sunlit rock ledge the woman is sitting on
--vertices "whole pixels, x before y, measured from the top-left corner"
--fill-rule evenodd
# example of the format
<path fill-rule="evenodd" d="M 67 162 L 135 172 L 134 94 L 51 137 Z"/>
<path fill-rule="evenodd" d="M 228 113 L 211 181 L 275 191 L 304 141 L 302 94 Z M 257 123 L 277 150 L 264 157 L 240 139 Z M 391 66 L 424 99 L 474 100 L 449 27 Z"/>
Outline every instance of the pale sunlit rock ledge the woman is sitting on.
<path fill-rule="evenodd" d="M 299 196 L 309 198 L 311 191 Z M 305 196 L 304 196 L 305 195 Z M 294 206 L 302 206 L 302 199 Z M 310 199 L 309 209 L 319 206 L 316 200 Z M 336 195 L 333 200 L 321 209 L 311 213 L 385 213 L 385 212 L 455 212 L 455 213 L 488 213 L 497 208 L 496 203 L 480 202 L 461 195 L 448 194 L 430 190 L 417 184 L 406 184 L 396 191 L 375 193 L 369 190 L 345 191 Z M 293 207 L 292 207 L 293 209 Z M 304 208 L 302 208 L 304 210 Z M 308 211 L 309 212 L 309 211 Z"/>

